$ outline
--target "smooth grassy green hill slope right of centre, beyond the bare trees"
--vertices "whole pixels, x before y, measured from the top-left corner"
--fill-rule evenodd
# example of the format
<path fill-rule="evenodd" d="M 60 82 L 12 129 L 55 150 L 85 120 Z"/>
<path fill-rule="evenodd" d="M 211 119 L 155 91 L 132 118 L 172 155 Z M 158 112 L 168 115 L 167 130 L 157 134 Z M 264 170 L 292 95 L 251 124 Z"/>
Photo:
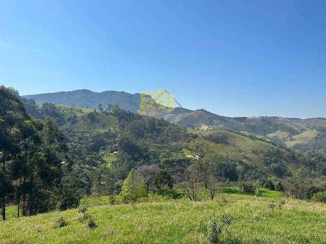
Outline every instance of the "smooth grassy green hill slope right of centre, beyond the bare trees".
<path fill-rule="evenodd" d="M 254 167 L 267 175 L 280 177 L 279 172 L 270 167 L 270 155 L 276 158 L 277 164 L 283 167 L 283 172 L 294 174 L 302 164 L 293 158 L 293 153 L 275 146 L 268 141 L 233 133 L 224 130 L 188 130 L 199 135 L 193 144 L 201 144 L 205 148 L 218 148 L 219 153 L 235 162 Z"/>

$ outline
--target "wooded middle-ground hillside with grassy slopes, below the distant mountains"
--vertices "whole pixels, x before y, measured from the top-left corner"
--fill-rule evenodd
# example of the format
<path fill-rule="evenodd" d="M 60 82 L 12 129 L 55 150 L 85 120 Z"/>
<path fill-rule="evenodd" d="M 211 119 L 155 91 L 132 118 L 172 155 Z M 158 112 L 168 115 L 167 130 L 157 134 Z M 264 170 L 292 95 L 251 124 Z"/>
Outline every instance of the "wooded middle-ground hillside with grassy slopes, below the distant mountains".
<path fill-rule="evenodd" d="M 58 120 L 65 118 L 62 129 L 77 164 L 66 180 L 78 182 L 82 194 L 92 194 L 96 188 L 119 191 L 129 171 L 143 165 L 158 165 L 176 174 L 191 163 L 194 154 L 218 155 L 219 177 L 230 181 L 290 177 L 304 168 L 316 175 L 323 171 L 320 165 L 316 169 L 313 157 L 255 136 L 225 130 L 157 129 L 154 118 L 147 123 L 146 117 L 118 105 L 98 109 L 55 107 Z M 35 109 L 42 110 L 37 105 Z M 169 125 L 163 119 L 159 123 Z M 119 154 L 111 155 L 115 150 Z M 114 184 L 102 186 L 101 181 Z"/>

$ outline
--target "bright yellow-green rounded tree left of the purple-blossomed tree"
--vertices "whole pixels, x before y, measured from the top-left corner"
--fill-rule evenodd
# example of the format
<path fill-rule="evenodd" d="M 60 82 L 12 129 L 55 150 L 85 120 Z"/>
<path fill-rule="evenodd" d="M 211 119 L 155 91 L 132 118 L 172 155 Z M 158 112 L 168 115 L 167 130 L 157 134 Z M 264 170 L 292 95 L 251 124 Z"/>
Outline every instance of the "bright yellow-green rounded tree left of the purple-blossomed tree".
<path fill-rule="evenodd" d="M 121 196 L 123 203 L 135 202 L 139 198 L 147 197 L 146 184 L 139 171 L 131 169 L 123 182 Z"/>

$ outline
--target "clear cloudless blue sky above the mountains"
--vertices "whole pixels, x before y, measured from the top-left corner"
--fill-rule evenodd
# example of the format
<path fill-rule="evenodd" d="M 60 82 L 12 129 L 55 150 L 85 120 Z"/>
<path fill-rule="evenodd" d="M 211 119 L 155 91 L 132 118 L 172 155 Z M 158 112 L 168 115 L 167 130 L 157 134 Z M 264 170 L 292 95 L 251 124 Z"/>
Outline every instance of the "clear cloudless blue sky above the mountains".
<path fill-rule="evenodd" d="M 1 1 L 21 95 L 167 89 L 227 116 L 326 116 L 326 1 Z"/>

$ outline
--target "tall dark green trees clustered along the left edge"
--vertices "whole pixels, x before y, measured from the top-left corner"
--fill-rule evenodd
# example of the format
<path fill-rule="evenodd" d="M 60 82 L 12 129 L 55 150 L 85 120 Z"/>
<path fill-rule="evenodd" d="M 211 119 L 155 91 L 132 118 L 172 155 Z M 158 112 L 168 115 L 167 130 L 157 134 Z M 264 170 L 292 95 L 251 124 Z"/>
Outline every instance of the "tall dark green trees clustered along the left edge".
<path fill-rule="evenodd" d="M 0 204 L 17 204 L 18 216 L 57 207 L 64 194 L 61 178 L 71 163 L 56 121 L 26 113 L 18 92 L 0 87 Z"/>

